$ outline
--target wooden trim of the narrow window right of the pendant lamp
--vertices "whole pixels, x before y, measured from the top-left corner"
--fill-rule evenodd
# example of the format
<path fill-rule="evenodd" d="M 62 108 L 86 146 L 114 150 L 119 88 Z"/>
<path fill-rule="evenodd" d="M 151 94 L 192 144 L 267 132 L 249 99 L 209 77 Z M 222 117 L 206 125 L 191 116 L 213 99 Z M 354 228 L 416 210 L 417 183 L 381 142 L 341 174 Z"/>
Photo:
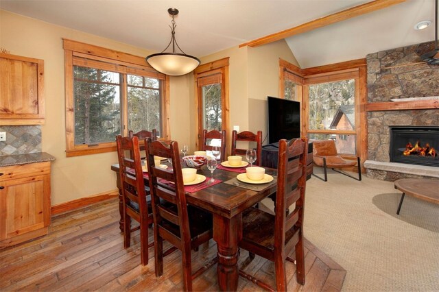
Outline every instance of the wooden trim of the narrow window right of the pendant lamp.
<path fill-rule="evenodd" d="M 197 133 L 197 138 L 195 141 L 196 149 L 200 149 L 200 137 L 198 133 L 200 132 L 200 114 L 202 114 L 202 109 L 200 108 L 200 98 L 201 90 L 198 86 L 198 78 L 206 77 L 209 75 L 221 74 L 221 90 L 224 92 L 224 100 L 222 101 L 222 130 L 226 130 L 226 152 L 231 147 L 231 131 L 230 131 L 230 101 L 229 101 L 229 58 L 223 58 L 206 64 L 198 66 L 194 71 L 194 90 L 195 90 L 195 112 L 197 113 L 197 119 L 195 119 L 195 133 Z M 227 154 L 228 155 L 228 154 Z"/>

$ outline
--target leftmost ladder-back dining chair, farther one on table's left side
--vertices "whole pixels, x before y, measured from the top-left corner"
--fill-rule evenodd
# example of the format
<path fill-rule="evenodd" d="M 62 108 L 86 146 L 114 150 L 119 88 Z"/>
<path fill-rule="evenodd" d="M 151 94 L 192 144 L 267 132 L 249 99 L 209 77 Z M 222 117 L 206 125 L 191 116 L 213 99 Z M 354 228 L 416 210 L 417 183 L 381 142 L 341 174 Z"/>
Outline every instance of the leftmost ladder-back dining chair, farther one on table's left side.
<path fill-rule="evenodd" d="M 117 156 L 119 158 L 119 179 L 123 198 L 123 247 L 131 245 L 131 232 L 140 228 L 141 263 L 148 263 L 148 227 L 152 224 L 151 204 L 147 200 L 149 188 L 145 188 L 141 165 L 139 138 L 116 137 Z M 126 152 L 131 157 L 127 157 Z M 154 160 L 153 160 L 154 161 Z M 131 229 L 131 219 L 139 222 L 139 228 Z"/>

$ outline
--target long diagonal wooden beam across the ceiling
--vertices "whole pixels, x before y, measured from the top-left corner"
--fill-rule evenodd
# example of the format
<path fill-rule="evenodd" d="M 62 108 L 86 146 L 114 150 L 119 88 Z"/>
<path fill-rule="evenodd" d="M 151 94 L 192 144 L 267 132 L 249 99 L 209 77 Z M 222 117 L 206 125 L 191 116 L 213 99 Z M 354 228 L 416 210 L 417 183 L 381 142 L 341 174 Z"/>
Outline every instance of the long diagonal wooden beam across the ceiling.
<path fill-rule="evenodd" d="M 315 19 L 313 21 L 303 23 L 302 25 L 298 25 L 296 27 L 285 29 L 281 32 L 269 34 L 268 36 L 263 36 L 262 38 L 257 38 L 256 40 L 250 40 L 250 42 L 244 42 L 243 44 L 239 45 L 239 47 L 246 47 L 246 46 L 258 47 L 261 45 L 268 44 L 270 42 L 276 42 L 277 40 L 281 40 L 283 38 L 288 38 L 289 36 L 294 36 L 296 34 L 303 34 L 304 32 L 309 32 L 319 27 L 331 25 L 333 23 L 344 21 L 346 19 L 352 19 L 355 16 L 360 16 L 369 12 L 374 12 L 376 10 L 388 8 L 389 6 L 396 5 L 405 1 L 407 0 L 370 1 L 368 3 L 355 6 L 353 8 L 349 8 L 346 10 L 342 10 L 340 12 L 336 12 L 334 14 L 330 14 L 328 16 L 324 16 L 320 19 Z"/>

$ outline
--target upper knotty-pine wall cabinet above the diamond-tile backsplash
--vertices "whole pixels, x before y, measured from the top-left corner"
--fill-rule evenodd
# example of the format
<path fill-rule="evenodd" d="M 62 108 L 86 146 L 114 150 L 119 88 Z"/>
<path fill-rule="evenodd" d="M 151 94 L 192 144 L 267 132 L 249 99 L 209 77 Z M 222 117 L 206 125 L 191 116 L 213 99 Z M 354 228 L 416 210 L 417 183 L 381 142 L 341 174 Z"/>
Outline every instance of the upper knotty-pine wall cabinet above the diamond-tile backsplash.
<path fill-rule="evenodd" d="M 0 125 L 44 123 L 44 61 L 0 53 Z"/>

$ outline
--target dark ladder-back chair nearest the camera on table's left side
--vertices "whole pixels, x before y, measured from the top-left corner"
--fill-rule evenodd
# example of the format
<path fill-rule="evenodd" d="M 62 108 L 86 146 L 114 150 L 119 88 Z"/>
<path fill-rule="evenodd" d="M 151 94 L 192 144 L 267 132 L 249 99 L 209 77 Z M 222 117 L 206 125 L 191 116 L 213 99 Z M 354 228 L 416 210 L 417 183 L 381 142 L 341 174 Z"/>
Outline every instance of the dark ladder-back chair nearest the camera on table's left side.
<path fill-rule="evenodd" d="M 209 241 L 213 236 L 212 215 L 186 203 L 178 143 L 145 141 L 152 210 L 154 214 L 154 251 L 156 276 L 163 275 L 163 239 L 182 253 L 183 289 L 192 291 L 192 280 L 217 262 L 211 260 L 192 273 L 191 250 Z M 172 159 L 172 170 L 155 167 L 153 156 Z M 167 180 L 172 184 L 163 183 Z"/>

